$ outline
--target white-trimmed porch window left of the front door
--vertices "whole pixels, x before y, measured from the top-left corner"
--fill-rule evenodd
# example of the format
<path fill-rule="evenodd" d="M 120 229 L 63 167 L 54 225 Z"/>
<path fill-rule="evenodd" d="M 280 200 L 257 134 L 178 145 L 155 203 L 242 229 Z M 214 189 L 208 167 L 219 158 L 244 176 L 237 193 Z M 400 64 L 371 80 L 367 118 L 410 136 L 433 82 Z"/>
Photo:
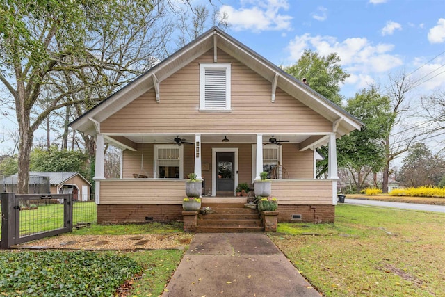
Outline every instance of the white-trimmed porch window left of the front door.
<path fill-rule="evenodd" d="M 182 178 L 184 149 L 178 145 L 154 145 L 154 177 Z"/>

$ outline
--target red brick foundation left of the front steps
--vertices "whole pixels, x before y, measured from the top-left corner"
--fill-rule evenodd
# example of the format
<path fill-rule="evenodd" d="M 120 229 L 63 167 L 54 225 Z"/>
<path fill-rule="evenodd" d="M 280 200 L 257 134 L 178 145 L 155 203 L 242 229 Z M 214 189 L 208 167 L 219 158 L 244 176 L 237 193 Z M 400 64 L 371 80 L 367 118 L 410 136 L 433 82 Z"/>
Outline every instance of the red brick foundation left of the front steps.
<path fill-rule="evenodd" d="M 182 220 L 182 205 L 120 204 L 97 205 L 97 223 L 145 223 Z"/>

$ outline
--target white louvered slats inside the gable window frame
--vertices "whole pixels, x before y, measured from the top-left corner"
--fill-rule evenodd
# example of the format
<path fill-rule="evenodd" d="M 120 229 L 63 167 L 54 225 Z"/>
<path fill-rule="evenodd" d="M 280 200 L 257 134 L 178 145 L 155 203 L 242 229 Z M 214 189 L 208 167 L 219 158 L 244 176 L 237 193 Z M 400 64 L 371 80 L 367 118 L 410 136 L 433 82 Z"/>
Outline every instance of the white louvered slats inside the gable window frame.
<path fill-rule="evenodd" d="M 226 108 L 226 69 L 205 70 L 204 101 L 206 109 Z"/>

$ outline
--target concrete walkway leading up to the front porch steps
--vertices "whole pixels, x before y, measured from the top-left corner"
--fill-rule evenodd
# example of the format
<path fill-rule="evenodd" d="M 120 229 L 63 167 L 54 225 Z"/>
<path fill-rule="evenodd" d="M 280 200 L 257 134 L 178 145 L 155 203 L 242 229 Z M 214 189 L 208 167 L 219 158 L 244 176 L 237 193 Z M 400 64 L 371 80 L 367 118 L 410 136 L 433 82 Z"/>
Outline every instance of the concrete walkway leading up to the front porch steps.
<path fill-rule="evenodd" d="M 163 297 L 320 297 L 262 233 L 198 233 Z"/>

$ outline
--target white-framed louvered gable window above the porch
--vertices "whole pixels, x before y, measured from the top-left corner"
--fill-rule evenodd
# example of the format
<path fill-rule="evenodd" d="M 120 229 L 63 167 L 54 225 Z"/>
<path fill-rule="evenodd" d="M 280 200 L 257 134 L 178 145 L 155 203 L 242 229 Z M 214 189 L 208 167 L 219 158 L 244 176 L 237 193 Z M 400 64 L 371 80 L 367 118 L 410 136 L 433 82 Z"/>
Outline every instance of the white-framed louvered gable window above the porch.
<path fill-rule="evenodd" d="M 230 64 L 200 63 L 200 111 L 230 110 Z"/>

